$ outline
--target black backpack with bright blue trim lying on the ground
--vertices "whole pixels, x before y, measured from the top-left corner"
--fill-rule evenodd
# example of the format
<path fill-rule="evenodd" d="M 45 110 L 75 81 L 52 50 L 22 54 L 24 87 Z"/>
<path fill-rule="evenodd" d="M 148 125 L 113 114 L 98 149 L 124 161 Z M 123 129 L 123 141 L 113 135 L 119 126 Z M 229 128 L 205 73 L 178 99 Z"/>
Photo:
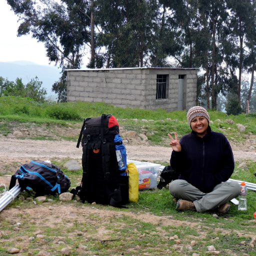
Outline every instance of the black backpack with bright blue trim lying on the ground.
<path fill-rule="evenodd" d="M 36 195 L 63 193 L 70 187 L 69 178 L 64 175 L 62 170 L 46 161 L 30 161 L 19 167 L 11 176 L 9 189 L 18 180 L 22 189 L 33 189 Z"/>

